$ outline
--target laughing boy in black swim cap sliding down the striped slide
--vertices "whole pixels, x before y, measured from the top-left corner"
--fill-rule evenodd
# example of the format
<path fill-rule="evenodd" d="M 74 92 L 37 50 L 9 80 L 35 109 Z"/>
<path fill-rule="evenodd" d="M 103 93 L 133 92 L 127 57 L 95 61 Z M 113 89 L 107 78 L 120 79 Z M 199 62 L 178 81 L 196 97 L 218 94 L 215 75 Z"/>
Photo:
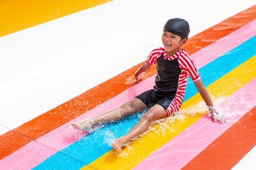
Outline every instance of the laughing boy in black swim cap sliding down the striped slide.
<path fill-rule="evenodd" d="M 146 62 L 134 74 L 139 82 L 141 80 L 140 74 L 150 69 L 152 64 L 157 64 L 154 89 L 143 92 L 116 110 L 79 124 L 72 123 L 72 127 L 81 131 L 92 132 L 93 128 L 99 124 L 115 122 L 127 115 L 150 108 L 141 116 L 140 122 L 132 127 L 131 131 L 111 143 L 111 146 L 120 152 L 129 141 L 148 131 L 152 122 L 168 117 L 179 110 L 184 98 L 188 76 L 193 80 L 196 89 L 209 107 L 212 120 L 216 122 L 218 113 L 213 108 L 211 97 L 200 79 L 195 64 L 188 53 L 180 48 L 188 40 L 188 34 L 189 24 L 186 20 L 181 18 L 168 20 L 164 25 L 162 35 L 164 47 L 153 50 Z M 218 121 L 223 122 L 223 120 Z"/>

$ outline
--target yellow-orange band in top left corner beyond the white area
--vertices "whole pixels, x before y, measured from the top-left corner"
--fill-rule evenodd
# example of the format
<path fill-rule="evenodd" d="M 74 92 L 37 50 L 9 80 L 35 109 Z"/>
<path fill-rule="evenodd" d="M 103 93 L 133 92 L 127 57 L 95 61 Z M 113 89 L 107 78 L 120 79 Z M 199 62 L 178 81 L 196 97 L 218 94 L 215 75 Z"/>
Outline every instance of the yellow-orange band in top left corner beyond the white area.
<path fill-rule="evenodd" d="M 113 0 L 2 0 L 0 37 Z"/>

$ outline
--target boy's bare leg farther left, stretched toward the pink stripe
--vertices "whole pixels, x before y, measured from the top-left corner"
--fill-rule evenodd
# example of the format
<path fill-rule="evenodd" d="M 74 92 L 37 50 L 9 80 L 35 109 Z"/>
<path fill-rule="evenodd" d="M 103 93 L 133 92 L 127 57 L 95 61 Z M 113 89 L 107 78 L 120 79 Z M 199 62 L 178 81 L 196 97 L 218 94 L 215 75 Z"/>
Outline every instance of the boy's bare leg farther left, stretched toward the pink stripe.
<path fill-rule="evenodd" d="M 142 101 L 140 101 L 140 99 L 135 98 L 132 101 L 123 104 L 120 108 L 104 113 L 99 117 L 84 120 L 78 124 L 71 123 L 71 125 L 74 129 L 85 132 L 92 132 L 93 128 L 99 124 L 104 124 L 106 122 L 116 122 L 126 115 L 131 115 L 132 113 L 145 110 L 146 108 L 147 106 Z"/>

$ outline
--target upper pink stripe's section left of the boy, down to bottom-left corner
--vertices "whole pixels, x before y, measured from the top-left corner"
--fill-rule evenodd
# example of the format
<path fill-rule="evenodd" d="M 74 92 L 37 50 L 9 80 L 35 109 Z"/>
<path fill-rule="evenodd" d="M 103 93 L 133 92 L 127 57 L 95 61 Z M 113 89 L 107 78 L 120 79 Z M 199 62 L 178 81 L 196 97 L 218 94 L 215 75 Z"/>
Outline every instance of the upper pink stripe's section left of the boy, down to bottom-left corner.
<path fill-rule="evenodd" d="M 124 102 L 131 101 L 134 96 L 144 92 L 145 89 L 152 89 L 154 85 L 154 76 L 142 81 L 138 85 L 131 87 L 131 89 L 126 90 L 122 94 L 100 104 L 96 108 L 87 111 L 80 117 L 75 118 L 70 122 L 79 122 L 84 119 L 97 117 L 102 115 L 109 110 L 113 110 L 114 107 L 118 108 Z M 78 141 L 81 137 L 85 136 L 81 131 L 76 131 L 70 127 L 70 122 L 61 125 L 60 127 L 54 129 L 53 131 L 45 134 L 44 136 L 36 139 L 36 141 L 31 141 L 27 145 L 23 146 L 16 152 L 4 157 L 0 160 L 0 169 L 32 169 L 37 166 L 45 159 L 48 159 L 54 153 L 66 148 L 68 145 Z M 45 148 L 44 145 L 41 146 L 40 143 L 44 143 L 45 146 L 49 148 L 54 148 L 55 150 L 49 150 Z M 31 160 L 33 159 L 33 160 Z M 19 167 L 19 168 L 17 168 Z"/>

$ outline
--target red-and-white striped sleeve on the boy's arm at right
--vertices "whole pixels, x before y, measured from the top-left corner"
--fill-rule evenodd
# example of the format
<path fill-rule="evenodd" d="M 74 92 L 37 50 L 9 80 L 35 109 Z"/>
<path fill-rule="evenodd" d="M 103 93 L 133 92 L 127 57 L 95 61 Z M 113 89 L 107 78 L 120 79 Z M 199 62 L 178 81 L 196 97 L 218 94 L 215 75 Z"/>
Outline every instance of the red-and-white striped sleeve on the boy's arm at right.
<path fill-rule="evenodd" d="M 200 75 L 196 69 L 195 62 L 189 57 L 188 53 L 182 53 L 181 62 L 193 82 L 200 80 Z"/>

